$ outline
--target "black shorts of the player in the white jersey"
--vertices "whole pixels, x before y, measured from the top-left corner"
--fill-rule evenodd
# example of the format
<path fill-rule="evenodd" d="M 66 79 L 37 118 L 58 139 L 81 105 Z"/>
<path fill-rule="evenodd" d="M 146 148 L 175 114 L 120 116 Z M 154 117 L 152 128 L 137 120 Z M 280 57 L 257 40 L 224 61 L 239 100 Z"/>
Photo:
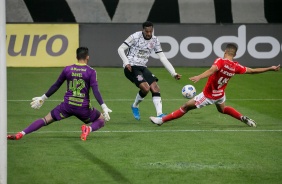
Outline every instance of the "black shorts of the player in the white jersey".
<path fill-rule="evenodd" d="M 144 66 L 131 66 L 132 72 L 130 72 L 126 67 L 124 68 L 124 75 L 132 83 L 135 83 L 137 87 L 142 82 L 147 82 L 151 85 L 153 82 L 158 82 L 158 78 L 152 74 L 152 72 Z"/>

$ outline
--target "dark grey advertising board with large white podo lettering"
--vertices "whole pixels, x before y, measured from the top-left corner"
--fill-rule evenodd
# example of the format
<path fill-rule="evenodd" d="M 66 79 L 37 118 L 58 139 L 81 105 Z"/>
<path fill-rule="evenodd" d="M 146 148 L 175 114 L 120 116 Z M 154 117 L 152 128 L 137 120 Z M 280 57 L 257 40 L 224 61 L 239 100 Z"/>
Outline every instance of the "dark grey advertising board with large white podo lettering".
<path fill-rule="evenodd" d="M 174 66 L 210 66 L 223 57 L 227 43 L 236 43 L 236 60 L 250 67 L 279 64 L 282 25 L 275 24 L 155 24 L 163 52 Z M 88 46 L 90 65 L 122 67 L 117 49 L 141 24 L 81 24 L 80 43 Z M 151 62 L 152 61 L 152 62 Z M 161 66 L 152 54 L 148 66 Z"/>

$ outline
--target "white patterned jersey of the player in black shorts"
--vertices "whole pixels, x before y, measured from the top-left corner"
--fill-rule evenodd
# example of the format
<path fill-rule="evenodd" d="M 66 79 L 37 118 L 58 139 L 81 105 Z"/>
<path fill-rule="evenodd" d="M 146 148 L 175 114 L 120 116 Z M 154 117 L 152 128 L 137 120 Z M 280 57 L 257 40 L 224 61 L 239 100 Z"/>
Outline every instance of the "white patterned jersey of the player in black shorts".
<path fill-rule="evenodd" d="M 143 37 L 142 31 L 133 33 L 124 43 L 129 47 L 126 56 L 131 66 L 146 67 L 148 58 L 153 51 L 155 53 L 162 52 L 158 38 L 153 35 L 150 40 L 146 40 Z"/>

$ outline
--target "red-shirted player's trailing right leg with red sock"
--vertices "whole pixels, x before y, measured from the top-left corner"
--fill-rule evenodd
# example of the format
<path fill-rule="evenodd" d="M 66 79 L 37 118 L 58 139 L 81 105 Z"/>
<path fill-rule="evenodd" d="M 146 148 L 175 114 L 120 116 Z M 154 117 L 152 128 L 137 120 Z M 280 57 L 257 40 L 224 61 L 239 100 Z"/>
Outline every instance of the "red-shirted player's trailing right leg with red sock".
<path fill-rule="evenodd" d="M 248 118 L 247 116 L 243 116 L 239 111 L 237 111 L 233 107 L 226 106 L 225 99 L 226 98 L 224 96 L 216 102 L 215 105 L 218 112 L 232 116 L 233 118 L 242 121 L 243 123 L 247 124 L 250 127 L 256 127 L 256 122 L 254 120 Z"/>

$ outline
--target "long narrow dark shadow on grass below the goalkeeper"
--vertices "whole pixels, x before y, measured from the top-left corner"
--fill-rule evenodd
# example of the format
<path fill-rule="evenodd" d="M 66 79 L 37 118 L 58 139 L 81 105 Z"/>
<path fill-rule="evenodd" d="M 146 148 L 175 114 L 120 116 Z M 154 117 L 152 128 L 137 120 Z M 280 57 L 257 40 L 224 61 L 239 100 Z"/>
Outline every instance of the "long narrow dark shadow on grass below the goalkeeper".
<path fill-rule="evenodd" d="M 118 170 L 116 170 L 113 166 L 108 164 L 107 162 L 104 162 L 103 160 L 100 160 L 97 158 L 93 153 L 89 152 L 87 149 L 85 149 L 83 146 L 79 144 L 75 144 L 74 148 L 77 152 L 80 152 L 80 154 L 84 155 L 85 158 L 87 158 L 90 162 L 99 165 L 106 173 L 108 173 L 115 181 L 118 181 L 119 183 L 130 183 L 130 181 L 125 178 Z"/>

